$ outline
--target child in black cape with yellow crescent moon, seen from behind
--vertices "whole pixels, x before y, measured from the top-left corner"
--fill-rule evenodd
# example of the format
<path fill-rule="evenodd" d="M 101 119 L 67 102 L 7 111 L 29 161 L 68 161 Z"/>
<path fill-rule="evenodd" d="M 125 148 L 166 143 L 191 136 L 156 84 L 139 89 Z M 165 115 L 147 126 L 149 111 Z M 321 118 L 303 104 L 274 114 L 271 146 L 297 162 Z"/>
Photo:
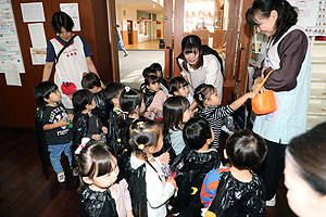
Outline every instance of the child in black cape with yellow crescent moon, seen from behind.
<path fill-rule="evenodd" d="M 215 149 L 210 149 L 214 133 L 208 120 L 192 118 L 183 130 L 186 149 L 172 165 L 176 171 L 178 194 L 175 208 L 179 216 L 200 216 L 200 190 L 205 175 L 220 167 L 221 159 Z"/>

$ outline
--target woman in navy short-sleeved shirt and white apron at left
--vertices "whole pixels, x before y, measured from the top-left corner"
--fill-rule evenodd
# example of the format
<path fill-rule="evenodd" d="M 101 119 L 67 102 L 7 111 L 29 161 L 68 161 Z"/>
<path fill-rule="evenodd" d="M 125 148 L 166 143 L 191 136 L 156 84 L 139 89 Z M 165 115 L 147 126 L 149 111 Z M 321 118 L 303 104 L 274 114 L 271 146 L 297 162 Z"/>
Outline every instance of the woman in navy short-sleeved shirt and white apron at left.
<path fill-rule="evenodd" d="M 48 41 L 42 81 L 50 79 L 55 61 L 54 82 L 60 91 L 63 81 L 74 82 L 77 90 L 82 89 L 83 74 L 88 72 L 97 74 L 97 69 L 90 59 L 92 52 L 85 38 L 79 36 L 72 38 L 74 22 L 66 13 L 55 12 L 52 16 L 51 25 L 58 35 Z M 64 50 L 61 52 L 62 49 Z M 70 97 L 61 95 L 64 106 L 73 108 Z"/>

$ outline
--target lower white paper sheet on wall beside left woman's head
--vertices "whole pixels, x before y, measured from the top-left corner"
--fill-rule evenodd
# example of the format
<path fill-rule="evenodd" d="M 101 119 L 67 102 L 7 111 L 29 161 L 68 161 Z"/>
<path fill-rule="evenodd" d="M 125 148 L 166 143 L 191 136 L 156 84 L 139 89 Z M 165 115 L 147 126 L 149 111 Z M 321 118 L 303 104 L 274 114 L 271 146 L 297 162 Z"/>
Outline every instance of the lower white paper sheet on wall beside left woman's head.
<path fill-rule="evenodd" d="M 42 23 L 28 24 L 33 48 L 47 48 L 47 38 Z"/>

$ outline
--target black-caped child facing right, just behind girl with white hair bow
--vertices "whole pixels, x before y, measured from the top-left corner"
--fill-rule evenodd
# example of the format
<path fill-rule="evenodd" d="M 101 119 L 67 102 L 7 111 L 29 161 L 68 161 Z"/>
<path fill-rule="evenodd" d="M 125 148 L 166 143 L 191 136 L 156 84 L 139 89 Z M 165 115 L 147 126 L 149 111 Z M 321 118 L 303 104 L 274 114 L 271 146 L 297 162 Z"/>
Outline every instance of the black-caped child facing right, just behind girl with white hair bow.
<path fill-rule="evenodd" d="M 86 89 L 78 90 L 73 95 L 73 104 L 76 114 L 73 127 L 75 141 L 80 143 L 82 139 L 87 137 L 106 142 L 108 128 L 103 126 L 97 115 L 92 114 L 92 110 L 96 107 L 93 93 Z"/>

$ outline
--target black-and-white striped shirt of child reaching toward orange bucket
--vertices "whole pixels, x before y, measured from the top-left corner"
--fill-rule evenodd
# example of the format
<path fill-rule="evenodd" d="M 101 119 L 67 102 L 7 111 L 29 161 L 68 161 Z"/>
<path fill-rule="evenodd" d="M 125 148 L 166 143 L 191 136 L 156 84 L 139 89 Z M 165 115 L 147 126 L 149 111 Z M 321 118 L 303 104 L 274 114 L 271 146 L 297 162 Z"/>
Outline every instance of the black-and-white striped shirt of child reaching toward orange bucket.
<path fill-rule="evenodd" d="M 223 125 L 223 119 L 234 113 L 234 110 L 231 108 L 230 105 L 226 106 L 209 106 L 209 107 L 203 107 L 199 115 L 206 119 L 214 132 L 214 141 L 212 142 L 212 148 L 218 149 L 220 145 L 220 135 L 221 135 L 221 129 Z"/>

